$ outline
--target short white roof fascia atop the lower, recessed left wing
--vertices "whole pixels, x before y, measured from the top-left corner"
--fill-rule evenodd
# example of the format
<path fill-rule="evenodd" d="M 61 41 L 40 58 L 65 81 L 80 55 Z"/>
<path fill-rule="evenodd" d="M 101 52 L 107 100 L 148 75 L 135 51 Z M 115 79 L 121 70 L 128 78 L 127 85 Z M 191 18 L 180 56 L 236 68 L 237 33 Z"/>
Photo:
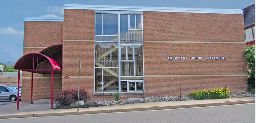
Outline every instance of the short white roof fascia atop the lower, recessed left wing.
<path fill-rule="evenodd" d="M 51 21 L 51 22 L 63 22 L 61 17 L 25 17 L 24 21 Z"/>

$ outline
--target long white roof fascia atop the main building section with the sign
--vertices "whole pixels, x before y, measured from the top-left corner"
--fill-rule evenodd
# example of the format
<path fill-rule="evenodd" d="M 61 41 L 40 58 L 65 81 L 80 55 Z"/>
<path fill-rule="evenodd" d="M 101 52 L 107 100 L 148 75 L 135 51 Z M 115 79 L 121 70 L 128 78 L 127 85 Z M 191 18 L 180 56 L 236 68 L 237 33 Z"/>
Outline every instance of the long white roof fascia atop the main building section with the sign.
<path fill-rule="evenodd" d="M 143 7 L 143 6 L 80 5 L 80 4 L 64 4 L 64 9 L 244 14 L 242 9 L 170 8 L 170 7 Z"/>

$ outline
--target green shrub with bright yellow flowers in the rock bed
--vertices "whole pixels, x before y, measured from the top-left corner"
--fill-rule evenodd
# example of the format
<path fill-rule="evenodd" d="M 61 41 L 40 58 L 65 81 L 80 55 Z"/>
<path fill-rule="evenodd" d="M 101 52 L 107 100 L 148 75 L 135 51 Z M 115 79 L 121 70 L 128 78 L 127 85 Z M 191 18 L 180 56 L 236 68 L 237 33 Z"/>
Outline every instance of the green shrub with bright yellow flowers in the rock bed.
<path fill-rule="evenodd" d="M 211 90 L 198 90 L 192 91 L 188 94 L 188 97 L 194 98 L 195 100 L 203 100 L 203 99 L 223 99 L 229 98 L 229 88 L 219 88 L 219 89 L 211 89 Z"/>

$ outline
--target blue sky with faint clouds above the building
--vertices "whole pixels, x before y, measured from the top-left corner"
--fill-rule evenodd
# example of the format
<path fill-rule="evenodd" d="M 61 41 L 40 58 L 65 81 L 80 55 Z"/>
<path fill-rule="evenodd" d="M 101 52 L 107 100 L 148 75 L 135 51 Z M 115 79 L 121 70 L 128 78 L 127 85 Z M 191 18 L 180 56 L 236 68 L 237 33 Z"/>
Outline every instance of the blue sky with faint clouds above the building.
<path fill-rule="evenodd" d="M 255 0 L 0 0 L 0 63 L 22 57 L 25 17 L 63 17 L 64 4 L 243 9 Z"/>

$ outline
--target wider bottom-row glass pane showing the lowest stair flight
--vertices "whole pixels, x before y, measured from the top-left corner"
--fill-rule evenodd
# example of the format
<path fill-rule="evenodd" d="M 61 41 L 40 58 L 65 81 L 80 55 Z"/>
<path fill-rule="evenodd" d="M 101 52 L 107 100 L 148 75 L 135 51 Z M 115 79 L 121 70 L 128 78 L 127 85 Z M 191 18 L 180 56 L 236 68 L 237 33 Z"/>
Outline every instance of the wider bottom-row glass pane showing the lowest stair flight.
<path fill-rule="evenodd" d="M 118 73 L 113 72 L 111 68 L 103 68 L 103 71 L 103 92 L 117 92 Z"/>

